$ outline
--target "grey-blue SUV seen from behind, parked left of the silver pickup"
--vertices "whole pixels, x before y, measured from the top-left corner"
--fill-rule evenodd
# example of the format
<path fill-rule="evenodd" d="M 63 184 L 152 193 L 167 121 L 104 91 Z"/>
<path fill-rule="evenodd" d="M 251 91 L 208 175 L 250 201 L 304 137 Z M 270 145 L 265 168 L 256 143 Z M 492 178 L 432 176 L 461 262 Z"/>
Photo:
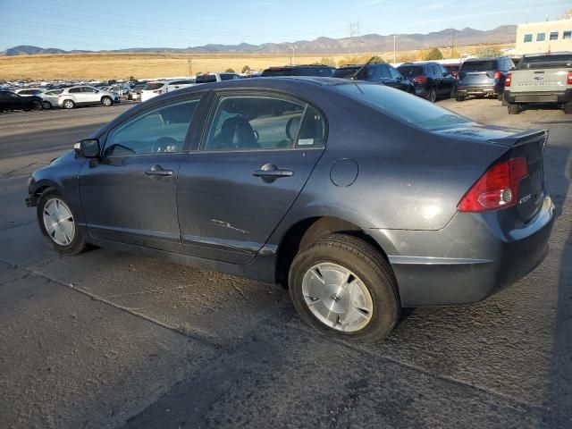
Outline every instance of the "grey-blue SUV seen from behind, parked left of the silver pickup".
<path fill-rule="evenodd" d="M 457 101 L 467 97 L 501 97 L 507 72 L 515 63 L 508 56 L 469 58 L 458 71 Z"/>

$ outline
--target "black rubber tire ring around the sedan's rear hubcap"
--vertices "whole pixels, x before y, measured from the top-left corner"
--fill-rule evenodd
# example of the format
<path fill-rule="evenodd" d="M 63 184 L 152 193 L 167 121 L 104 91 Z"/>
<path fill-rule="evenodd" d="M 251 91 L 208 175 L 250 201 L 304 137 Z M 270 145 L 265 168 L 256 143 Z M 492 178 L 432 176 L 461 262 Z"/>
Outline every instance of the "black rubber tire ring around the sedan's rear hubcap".
<path fill-rule="evenodd" d="M 307 306 L 302 283 L 316 264 L 341 265 L 366 285 L 373 302 L 369 322 L 354 332 L 343 332 L 321 322 Z M 300 317 L 318 331 L 340 339 L 360 342 L 382 341 L 400 319 L 401 305 L 397 281 L 391 266 L 372 245 L 345 234 L 330 234 L 299 251 L 290 265 L 290 297 Z M 334 298 L 335 299 L 335 298 Z M 339 298 L 338 298 L 339 299 Z M 337 300 L 336 300 L 337 302 Z"/>

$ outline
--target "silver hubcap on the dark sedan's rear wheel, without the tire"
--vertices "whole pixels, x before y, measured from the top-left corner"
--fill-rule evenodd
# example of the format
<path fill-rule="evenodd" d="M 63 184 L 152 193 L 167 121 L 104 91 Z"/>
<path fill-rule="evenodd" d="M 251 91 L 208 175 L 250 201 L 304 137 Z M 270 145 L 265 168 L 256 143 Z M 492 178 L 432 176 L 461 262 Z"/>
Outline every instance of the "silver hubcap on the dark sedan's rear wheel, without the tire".
<path fill-rule="evenodd" d="M 359 331 L 374 313 L 366 284 L 338 264 L 322 263 L 310 268 L 302 279 L 302 294 L 312 314 L 337 331 Z"/>

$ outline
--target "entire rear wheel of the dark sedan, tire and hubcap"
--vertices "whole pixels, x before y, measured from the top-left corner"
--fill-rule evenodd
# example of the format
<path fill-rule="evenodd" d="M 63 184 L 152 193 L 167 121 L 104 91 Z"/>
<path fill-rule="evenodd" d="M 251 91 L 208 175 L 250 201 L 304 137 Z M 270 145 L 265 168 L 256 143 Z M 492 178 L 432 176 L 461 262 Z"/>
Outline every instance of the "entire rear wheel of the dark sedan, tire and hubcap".
<path fill-rule="evenodd" d="M 300 317 L 322 332 L 350 341 L 385 338 L 400 317 L 390 265 L 364 240 L 331 234 L 292 261 L 290 297 Z"/>

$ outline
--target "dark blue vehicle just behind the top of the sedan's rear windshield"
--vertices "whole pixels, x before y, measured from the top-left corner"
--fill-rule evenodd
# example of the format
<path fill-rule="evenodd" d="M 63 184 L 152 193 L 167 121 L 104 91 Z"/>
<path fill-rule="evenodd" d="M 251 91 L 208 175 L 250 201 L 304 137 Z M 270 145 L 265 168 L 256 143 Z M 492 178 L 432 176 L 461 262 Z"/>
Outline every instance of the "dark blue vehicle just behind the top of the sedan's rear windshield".
<path fill-rule="evenodd" d="M 357 71 L 359 72 L 357 73 Z M 388 87 L 401 89 L 402 91 L 409 92 L 411 94 L 415 93 L 413 83 L 405 79 L 397 69 L 393 68 L 390 64 L 385 63 L 342 65 L 339 69 L 333 72 L 333 77 L 341 79 L 366 80 L 368 82 L 380 83 L 387 85 Z"/>

